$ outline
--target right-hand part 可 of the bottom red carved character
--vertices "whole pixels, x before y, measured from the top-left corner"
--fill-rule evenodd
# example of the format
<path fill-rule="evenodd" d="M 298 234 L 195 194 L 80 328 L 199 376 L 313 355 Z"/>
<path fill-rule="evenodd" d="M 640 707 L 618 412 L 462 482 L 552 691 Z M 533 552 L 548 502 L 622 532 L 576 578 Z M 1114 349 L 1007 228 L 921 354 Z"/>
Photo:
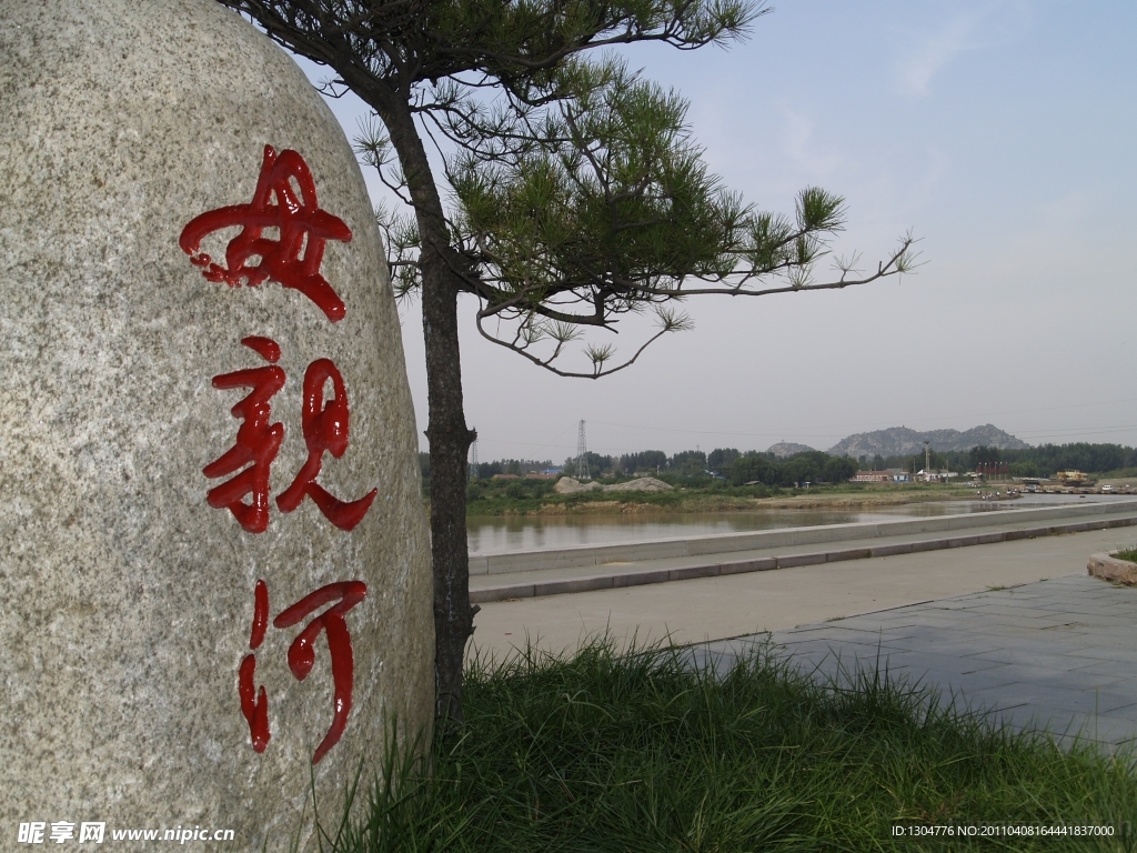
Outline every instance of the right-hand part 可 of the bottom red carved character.
<path fill-rule="evenodd" d="M 290 628 L 323 605 L 339 599 L 338 604 L 313 619 L 288 649 L 288 663 L 292 674 L 302 681 L 312 672 L 316 662 L 313 643 L 321 631 L 327 633 L 327 651 L 332 655 L 332 681 L 334 684 L 332 726 L 319 742 L 312 763 L 317 764 L 327 751 L 339 743 L 351 711 L 351 687 L 355 680 L 355 659 L 351 654 L 351 633 L 343 614 L 355 607 L 367 595 L 367 585 L 358 580 L 329 583 L 305 596 L 273 620 L 276 628 Z"/>

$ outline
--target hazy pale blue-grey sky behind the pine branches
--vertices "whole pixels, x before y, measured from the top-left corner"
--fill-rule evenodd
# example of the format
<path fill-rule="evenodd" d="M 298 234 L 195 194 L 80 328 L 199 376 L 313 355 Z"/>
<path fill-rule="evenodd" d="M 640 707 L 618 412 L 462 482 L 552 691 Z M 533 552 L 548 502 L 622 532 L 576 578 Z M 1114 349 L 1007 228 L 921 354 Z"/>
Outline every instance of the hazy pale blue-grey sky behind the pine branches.
<path fill-rule="evenodd" d="M 799 189 L 823 187 L 848 200 L 838 254 L 874 265 L 912 229 L 927 265 L 843 291 L 689 300 L 694 331 L 599 381 L 483 341 L 470 300 L 480 459 L 559 463 L 582 419 L 601 454 L 825 449 L 902 424 L 1137 445 L 1135 45 L 1137 3 L 1122 0 L 786 0 L 727 51 L 630 51 L 691 102 L 711 169 L 746 200 L 791 213 Z M 332 106 L 354 135 L 358 103 Z M 400 314 L 421 432 L 422 318 Z"/>

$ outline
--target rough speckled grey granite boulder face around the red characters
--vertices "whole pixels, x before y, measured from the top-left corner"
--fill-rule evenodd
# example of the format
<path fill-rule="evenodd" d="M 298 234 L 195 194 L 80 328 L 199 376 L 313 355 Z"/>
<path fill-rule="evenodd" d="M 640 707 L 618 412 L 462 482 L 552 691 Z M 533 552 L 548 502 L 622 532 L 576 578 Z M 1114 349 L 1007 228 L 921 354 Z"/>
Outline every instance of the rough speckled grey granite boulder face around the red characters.
<path fill-rule="evenodd" d="M 331 111 L 292 60 L 207 0 L 0 0 L 0 846 L 19 821 L 235 830 L 233 850 L 312 846 L 368 778 L 397 718 L 432 714 L 429 543 L 398 317 L 362 175 Z M 206 281 L 179 247 L 194 216 L 254 196 L 263 150 L 294 149 L 330 240 L 321 272 L 338 322 L 276 282 Z M 235 229 L 204 247 L 215 258 Z M 354 499 L 351 532 L 310 498 L 264 533 L 206 503 L 202 467 L 233 446 L 248 389 L 213 376 L 266 364 L 287 383 L 271 494 L 307 458 L 305 368 L 330 358 L 350 401 L 350 444 L 318 482 Z M 330 391 L 329 391 L 330 394 Z M 269 622 L 256 684 L 272 739 L 254 752 L 238 670 L 254 588 L 271 618 L 319 587 L 362 580 L 346 615 L 355 653 L 346 732 L 329 730 L 326 632 L 298 681 L 292 628 Z M 326 607 L 322 607 L 321 611 Z M 314 772 L 313 772 L 314 771 Z M 305 828 L 307 827 L 307 828 Z"/>

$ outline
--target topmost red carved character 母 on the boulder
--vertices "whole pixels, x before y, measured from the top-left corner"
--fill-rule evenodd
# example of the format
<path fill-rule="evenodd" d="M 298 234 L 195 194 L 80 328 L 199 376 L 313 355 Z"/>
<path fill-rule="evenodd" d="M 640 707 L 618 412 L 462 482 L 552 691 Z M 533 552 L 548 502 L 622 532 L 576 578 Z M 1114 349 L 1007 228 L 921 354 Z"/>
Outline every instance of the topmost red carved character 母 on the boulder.
<path fill-rule="evenodd" d="M 271 204 L 274 194 L 276 204 Z M 214 231 L 233 226 L 240 226 L 241 233 L 225 248 L 226 268 L 201 251 L 201 241 Z M 279 229 L 276 240 L 264 237 L 265 229 L 272 227 Z M 343 318 L 346 309 L 319 274 L 327 240 L 350 242 L 351 229 L 343 220 L 319 209 L 316 183 L 299 152 L 288 149 L 277 155 L 272 146 L 265 146 L 252 201 L 194 217 L 182 230 L 179 245 L 194 265 L 205 267 L 201 274 L 209 281 L 224 281 L 230 287 L 240 287 L 242 281 L 249 287 L 267 279 L 279 281 L 308 297 L 334 323 Z M 258 257 L 259 263 L 249 264 L 252 257 Z"/>

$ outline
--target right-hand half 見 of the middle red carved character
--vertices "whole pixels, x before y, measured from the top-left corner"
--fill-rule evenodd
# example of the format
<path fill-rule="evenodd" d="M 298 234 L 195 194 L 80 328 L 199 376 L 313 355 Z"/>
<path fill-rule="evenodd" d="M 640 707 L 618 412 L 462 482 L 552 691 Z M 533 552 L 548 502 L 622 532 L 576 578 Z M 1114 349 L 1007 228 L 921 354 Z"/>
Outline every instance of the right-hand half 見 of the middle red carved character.
<path fill-rule="evenodd" d="M 332 398 L 325 403 L 327 380 L 332 381 Z M 304 374 L 304 440 L 308 461 L 276 498 L 276 506 L 290 513 L 309 495 L 329 521 L 340 530 L 351 530 L 367 514 L 377 490 L 372 489 L 358 500 L 340 500 L 316 482 L 324 452 L 338 459 L 348 449 L 348 392 L 343 376 L 327 358 L 316 359 Z"/>

